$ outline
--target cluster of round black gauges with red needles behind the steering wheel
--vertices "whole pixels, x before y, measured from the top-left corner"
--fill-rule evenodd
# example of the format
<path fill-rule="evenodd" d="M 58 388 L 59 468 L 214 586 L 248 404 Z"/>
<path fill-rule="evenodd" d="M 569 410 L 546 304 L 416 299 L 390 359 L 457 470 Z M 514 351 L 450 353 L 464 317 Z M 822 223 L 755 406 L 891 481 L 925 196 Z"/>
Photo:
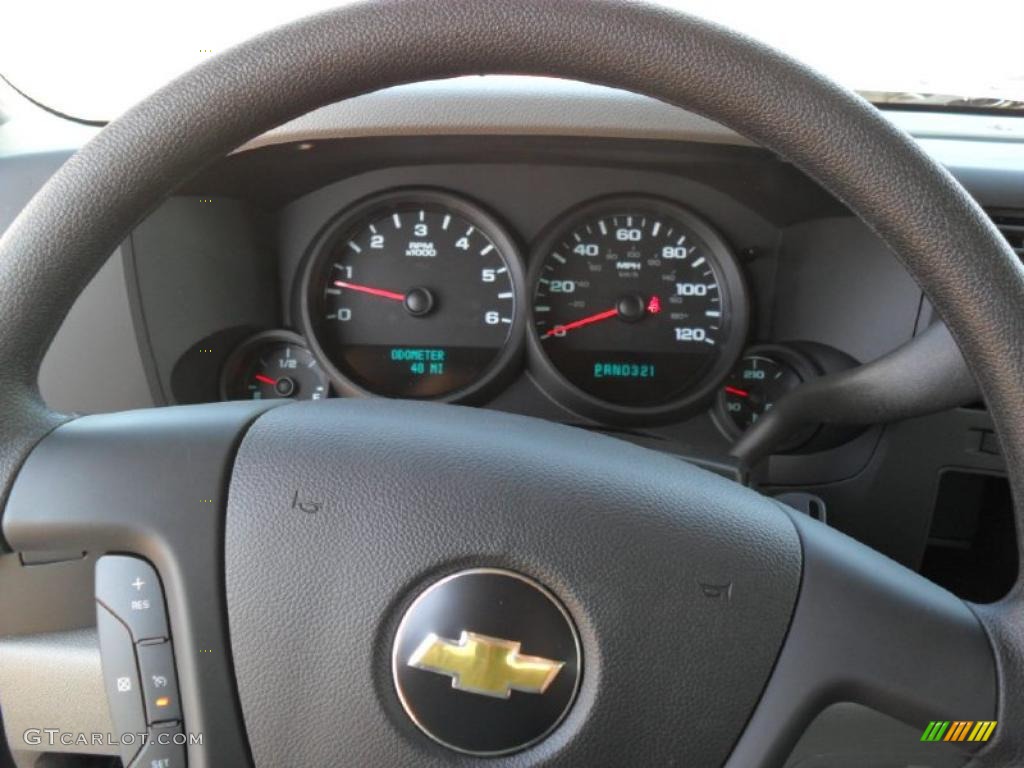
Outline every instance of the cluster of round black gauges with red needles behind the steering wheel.
<path fill-rule="evenodd" d="M 755 418 L 735 402 L 750 396 L 735 384 L 750 313 L 736 257 L 697 214 L 654 196 L 590 201 L 521 248 L 459 195 L 374 195 L 310 244 L 294 308 L 299 334 L 260 334 L 231 355 L 225 398 L 481 402 L 525 365 L 601 423 L 678 421 L 716 397 L 726 433 Z M 776 389 L 802 381 L 771 371 Z"/>

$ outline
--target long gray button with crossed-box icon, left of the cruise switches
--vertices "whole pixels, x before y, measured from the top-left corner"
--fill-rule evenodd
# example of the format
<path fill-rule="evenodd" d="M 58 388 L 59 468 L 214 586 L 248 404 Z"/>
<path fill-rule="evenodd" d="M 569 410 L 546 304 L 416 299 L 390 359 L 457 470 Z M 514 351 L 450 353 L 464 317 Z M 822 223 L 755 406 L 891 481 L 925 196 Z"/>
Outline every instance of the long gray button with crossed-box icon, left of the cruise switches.
<path fill-rule="evenodd" d="M 96 629 L 114 730 L 119 736 L 143 733 L 145 718 L 142 714 L 142 691 L 135 666 L 135 648 L 128 628 L 111 611 L 97 604 Z M 121 759 L 125 765 L 135 757 L 139 746 L 137 735 L 132 743 L 121 744 Z"/>

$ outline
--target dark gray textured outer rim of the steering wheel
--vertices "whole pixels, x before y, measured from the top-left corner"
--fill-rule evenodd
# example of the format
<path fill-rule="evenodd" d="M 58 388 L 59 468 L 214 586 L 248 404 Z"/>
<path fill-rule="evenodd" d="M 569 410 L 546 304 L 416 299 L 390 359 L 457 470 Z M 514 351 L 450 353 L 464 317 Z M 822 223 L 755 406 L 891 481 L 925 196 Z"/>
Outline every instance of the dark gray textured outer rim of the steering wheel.
<path fill-rule="evenodd" d="M 36 378 L 60 322 L 125 234 L 176 185 L 326 103 L 478 73 L 643 93 L 717 120 L 815 178 L 892 247 L 949 326 L 995 420 L 1016 498 L 1024 499 L 1024 267 L 984 213 L 859 97 L 721 27 L 618 0 L 346 6 L 227 50 L 111 123 L 0 240 L 2 498 L 59 421 L 39 402 Z M 996 639 L 1005 722 L 1024 721 L 1022 593 L 1018 584 L 979 611 Z M 997 730 L 988 753 L 1024 762 L 1008 733 Z"/>

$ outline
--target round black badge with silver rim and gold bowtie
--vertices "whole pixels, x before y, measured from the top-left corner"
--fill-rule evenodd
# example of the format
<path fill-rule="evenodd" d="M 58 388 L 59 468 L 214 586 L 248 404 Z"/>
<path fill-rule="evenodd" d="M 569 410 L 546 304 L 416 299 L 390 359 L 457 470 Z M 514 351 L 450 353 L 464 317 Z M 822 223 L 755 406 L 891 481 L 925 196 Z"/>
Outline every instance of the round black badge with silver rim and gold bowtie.
<path fill-rule="evenodd" d="M 430 585 L 398 624 L 395 692 L 429 738 L 470 755 L 537 743 L 580 686 L 580 638 L 568 611 L 521 573 L 471 568 Z"/>

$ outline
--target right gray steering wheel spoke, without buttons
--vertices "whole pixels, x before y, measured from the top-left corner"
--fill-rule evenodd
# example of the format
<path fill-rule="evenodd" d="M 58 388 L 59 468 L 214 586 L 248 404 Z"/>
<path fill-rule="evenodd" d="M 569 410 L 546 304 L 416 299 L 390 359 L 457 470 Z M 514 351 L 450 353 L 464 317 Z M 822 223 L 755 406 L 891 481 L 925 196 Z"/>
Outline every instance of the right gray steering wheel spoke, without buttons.
<path fill-rule="evenodd" d="M 922 729 L 934 720 L 994 720 L 995 662 L 971 608 L 858 542 L 787 512 L 803 545 L 800 596 L 729 765 L 781 765 L 834 703 L 859 703 Z M 983 744 L 959 745 L 974 752 Z"/>

